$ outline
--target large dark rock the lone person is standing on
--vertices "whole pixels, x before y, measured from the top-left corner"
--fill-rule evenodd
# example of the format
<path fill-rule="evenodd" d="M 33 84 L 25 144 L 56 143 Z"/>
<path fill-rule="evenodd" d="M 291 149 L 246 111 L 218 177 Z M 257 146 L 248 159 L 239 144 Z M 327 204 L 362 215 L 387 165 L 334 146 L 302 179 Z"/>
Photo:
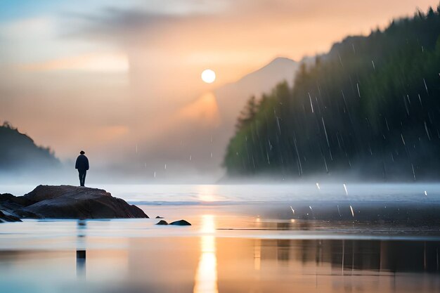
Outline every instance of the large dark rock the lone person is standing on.
<path fill-rule="evenodd" d="M 31 219 L 148 218 L 105 190 L 70 185 L 39 185 L 21 197 L 0 195 L 0 209 Z"/>

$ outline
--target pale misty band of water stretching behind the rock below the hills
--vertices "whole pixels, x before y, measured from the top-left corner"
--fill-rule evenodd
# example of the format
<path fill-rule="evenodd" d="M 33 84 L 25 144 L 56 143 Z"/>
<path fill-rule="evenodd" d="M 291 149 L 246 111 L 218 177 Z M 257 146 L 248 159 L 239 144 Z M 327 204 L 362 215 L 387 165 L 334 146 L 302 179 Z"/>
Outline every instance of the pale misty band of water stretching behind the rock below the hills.
<path fill-rule="evenodd" d="M 24 195 L 34 185 L 1 185 L 2 193 Z M 90 184 L 129 202 L 198 204 L 252 202 L 440 202 L 440 183 L 244 183 Z"/>

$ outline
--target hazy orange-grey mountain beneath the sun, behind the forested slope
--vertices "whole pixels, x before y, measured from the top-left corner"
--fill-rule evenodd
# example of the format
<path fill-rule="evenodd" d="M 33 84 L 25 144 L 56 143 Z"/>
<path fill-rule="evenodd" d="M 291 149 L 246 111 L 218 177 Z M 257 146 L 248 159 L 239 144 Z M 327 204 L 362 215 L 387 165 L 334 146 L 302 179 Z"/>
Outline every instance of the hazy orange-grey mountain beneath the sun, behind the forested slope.
<path fill-rule="evenodd" d="M 138 169 L 156 174 L 156 181 L 194 174 L 198 182 L 202 177 L 212 182 L 224 176 L 221 162 L 242 107 L 252 95 L 260 97 L 278 82 L 292 83 L 298 67 L 293 60 L 276 58 L 237 82 L 220 86 L 184 105 L 162 123 L 161 136 L 143 143 L 148 145 L 148 155 L 138 155 Z"/>

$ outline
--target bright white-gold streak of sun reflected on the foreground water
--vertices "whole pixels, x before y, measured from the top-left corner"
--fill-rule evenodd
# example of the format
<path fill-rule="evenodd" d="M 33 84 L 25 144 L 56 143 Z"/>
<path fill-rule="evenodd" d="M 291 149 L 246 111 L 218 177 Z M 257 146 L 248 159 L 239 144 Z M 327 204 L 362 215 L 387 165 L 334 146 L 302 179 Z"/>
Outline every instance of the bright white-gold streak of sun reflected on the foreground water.
<path fill-rule="evenodd" d="M 200 260 L 195 273 L 194 293 L 217 293 L 217 257 L 214 216 L 202 215 Z"/>

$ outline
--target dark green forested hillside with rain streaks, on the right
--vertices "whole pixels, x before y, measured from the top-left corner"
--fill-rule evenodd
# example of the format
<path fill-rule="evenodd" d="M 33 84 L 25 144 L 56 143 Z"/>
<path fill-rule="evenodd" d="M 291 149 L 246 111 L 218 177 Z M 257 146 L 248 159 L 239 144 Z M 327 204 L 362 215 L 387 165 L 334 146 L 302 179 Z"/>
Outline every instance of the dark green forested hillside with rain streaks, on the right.
<path fill-rule="evenodd" d="M 440 178 L 440 6 L 347 37 L 303 65 L 293 87 L 252 98 L 228 175 Z"/>

